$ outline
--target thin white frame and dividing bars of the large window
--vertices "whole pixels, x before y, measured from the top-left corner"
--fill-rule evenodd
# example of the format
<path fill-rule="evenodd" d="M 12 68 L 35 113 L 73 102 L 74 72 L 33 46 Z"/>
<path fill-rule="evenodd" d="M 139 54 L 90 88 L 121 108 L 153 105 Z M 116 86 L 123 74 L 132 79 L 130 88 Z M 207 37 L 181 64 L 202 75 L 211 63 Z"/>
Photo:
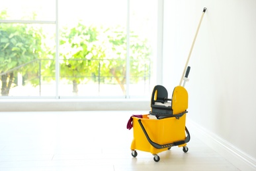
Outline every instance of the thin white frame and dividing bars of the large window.
<path fill-rule="evenodd" d="M 56 0 L 56 20 L 0 20 L 0 23 L 14 23 L 14 24 L 55 24 L 56 28 L 56 94 L 52 96 L 1 96 L 0 99 L 145 99 L 148 98 L 146 96 L 131 96 L 130 95 L 130 0 L 127 0 L 127 23 L 126 23 L 126 31 L 127 31 L 127 53 L 126 53 L 126 95 L 120 97 L 115 96 L 69 96 L 64 97 L 59 95 L 59 83 L 60 83 L 60 59 L 59 59 L 59 47 L 60 47 L 60 24 L 59 24 L 59 0 Z M 153 59 L 153 68 L 155 68 L 155 72 L 153 72 L 153 79 L 155 79 L 155 84 L 161 84 L 163 82 L 162 71 L 161 68 L 163 66 L 162 59 L 162 49 L 163 49 L 163 0 L 157 0 L 157 42 L 156 42 L 156 54 L 155 59 Z M 157 59 L 157 60 L 156 60 Z M 152 86 L 152 85 L 151 85 Z"/>

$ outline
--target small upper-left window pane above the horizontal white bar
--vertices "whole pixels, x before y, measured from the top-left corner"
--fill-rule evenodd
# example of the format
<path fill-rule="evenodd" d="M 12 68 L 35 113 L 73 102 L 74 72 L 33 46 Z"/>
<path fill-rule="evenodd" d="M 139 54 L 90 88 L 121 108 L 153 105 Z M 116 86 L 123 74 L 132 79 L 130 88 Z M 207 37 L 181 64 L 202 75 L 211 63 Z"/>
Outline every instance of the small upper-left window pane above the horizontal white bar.
<path fill-rule="evenodd" d="M 53 0 L 1 0 L 0 12 L 7 11 L 7 20 L 56 20 Z"/>

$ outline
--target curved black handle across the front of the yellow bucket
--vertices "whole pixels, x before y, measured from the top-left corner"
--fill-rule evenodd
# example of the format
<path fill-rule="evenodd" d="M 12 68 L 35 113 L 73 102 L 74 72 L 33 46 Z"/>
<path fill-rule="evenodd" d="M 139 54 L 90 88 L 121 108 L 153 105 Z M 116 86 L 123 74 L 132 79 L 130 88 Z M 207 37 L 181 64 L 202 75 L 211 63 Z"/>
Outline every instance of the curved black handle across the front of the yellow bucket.
<path fill-rule="evenodd" d="M 142 130 L 143 130 L 144 134 L 146 135 L 146 137 L 147 137 L 149 143 L 150 143 L 153 147 L 155 147 L 156 149 L 164 149 L 164 148 L 173 147 L 173 146 L 177 146 L 177 145 L 183 145 L 183 144 L 185 144 L 185 143 L 188 143 L 188 142 L 190 141 L 190 139 L 191 139 L 191 135 L 189 134 L 189 130 L 188 130 L 187 127 L 185 126 L 185 131 L 187 132 L 187 137 L 185 138 L 185 140 L 182 140 L 182 141 L 175 141 L 175 142 L 173 142 L 173 143 L 167 143 L 167 144 L 159 145 L 158 143 L 155 143 L 155 142 L 151 141 L 151 139 L 149 138 L 148 133 L 146 132 L 146 130 L 145 130 L 143 124 L 142 124 L 142 120 L 139 119 L 138 122 L 139 122 L 140 126 L 142 127 Z"/>

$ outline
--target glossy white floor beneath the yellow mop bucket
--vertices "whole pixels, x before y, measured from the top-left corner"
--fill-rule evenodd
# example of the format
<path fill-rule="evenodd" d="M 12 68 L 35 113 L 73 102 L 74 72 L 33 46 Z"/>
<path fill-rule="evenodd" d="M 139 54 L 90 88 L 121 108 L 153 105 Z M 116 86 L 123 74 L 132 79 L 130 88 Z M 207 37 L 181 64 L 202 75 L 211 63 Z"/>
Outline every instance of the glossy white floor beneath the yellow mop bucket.
<path fill-rule="evenodd" d="M 188 153 L 173 147 L 159 162 L 142 151 L 132 157 L 132 114 L 146 112 L 0 112 L 0 170 L 238 170 L 193 132 Z"/>

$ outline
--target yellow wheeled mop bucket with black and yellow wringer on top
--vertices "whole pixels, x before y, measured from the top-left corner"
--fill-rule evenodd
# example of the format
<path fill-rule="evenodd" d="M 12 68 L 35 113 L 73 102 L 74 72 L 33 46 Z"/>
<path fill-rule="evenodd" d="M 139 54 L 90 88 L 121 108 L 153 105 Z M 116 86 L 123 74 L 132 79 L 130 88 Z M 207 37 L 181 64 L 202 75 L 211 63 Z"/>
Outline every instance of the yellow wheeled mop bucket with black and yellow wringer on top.
<path fill-rule="evenodd" d="M 132 117 L 134 139 L 130 149 L 132 156 L 138 155 L 136 150 L 151 153 L 158 162 L 157 153 L 167 151 L 171 147 L 183 147 L 187 153 L 190 134 L 185 126 L 188 108 L 188 93 L 182 86 L 173 90 L 172 99 L 162 85 L 156 85 L 151 97 L 151 111 L 142 118 Z M 171 101 L 171 103 L 169 103 Z M 155 118 L 151 118 L 154 116 Z"/>

